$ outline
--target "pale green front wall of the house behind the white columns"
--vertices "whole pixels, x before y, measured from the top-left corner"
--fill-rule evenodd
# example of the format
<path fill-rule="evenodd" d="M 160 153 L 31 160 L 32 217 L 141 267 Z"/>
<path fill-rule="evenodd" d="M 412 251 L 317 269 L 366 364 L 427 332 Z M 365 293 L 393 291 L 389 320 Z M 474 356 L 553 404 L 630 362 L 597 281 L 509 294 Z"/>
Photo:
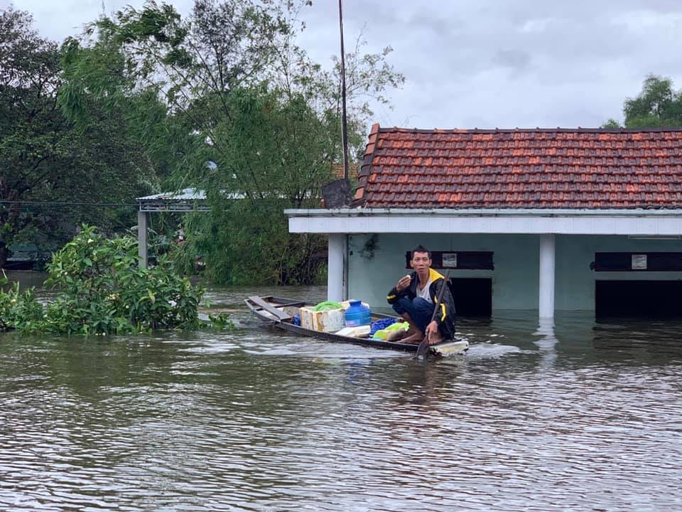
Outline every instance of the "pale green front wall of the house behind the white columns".
<path fill-rule="evenodd" d="M 492 308 L 537 309 L 539 235 L 379 234 L 379 248 L 361 254 L 370 235 L 350 237 L 350 298 L 387 307 L 386 292 L 405 275 L 405 251 L 492 251 L 495 270 L 452 270 L 451 277 L 492 277 Z M 593 310 L 597 279 L 682 279 L 682 272 L 594 272 L 595 252 L 682 252 L 682 240 L 632 240 L 622 235 L 556 235 L 555 306 Z"/>

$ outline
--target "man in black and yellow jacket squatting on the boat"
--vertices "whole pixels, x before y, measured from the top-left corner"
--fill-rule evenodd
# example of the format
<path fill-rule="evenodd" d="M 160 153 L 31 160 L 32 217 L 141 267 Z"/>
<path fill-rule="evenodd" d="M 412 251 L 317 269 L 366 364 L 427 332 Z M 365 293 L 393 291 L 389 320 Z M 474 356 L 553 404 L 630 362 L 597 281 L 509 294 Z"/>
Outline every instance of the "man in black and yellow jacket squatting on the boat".
<path fill-rule="evenodd" d="M 401 343 L 440 343 L 455 336 L 455 304 L 443 274 L 431 268 L 431 251 L 418 245 L 412 251 L 410 266 L 415 270 L 401 278 L 386 299 L 397 314 L 410 324 Z M 443 300 L 437 302 L 440 287 L 445 286 Z M 434 320 L 433 309 L 436 308 Z"/>

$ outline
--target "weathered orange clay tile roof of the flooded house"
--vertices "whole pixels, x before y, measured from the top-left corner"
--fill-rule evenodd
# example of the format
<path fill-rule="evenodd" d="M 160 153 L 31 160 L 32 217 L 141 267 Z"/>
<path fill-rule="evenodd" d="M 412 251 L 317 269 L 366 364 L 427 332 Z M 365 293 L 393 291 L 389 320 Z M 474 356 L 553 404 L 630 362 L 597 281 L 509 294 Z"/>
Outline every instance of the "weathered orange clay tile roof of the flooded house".
<path fill-rule="evenodd" d="M 682 208 L 682 129 L 381 128 L 355 205 Z"/>

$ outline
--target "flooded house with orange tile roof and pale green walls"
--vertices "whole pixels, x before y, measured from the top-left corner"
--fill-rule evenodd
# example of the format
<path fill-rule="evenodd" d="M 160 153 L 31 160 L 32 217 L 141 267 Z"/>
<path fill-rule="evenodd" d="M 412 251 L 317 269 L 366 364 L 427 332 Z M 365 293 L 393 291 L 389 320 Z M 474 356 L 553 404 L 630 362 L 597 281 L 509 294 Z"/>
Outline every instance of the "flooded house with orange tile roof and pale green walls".
<path fill-rule="evenodd" d="M 421 244 L 462 316 L 682 316 L 682 129 L 375 124 L 350 207 L 285 213 L 329 235 L 330 299 L 386 306 Z"/>

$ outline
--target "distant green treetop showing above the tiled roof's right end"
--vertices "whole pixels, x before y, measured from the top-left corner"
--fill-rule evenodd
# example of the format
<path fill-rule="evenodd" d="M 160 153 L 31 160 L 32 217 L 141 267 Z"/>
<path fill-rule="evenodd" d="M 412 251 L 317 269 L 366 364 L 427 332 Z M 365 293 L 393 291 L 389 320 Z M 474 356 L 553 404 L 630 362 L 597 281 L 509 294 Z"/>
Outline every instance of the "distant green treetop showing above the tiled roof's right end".
<path fill-rule="evenodd" d="M 682 126 L 682 91 L 673 89 L 670 78 L 649 75 L 642 84 L 642 91 L 628 98 L 623 105 L 626 128 L 655 128 Z M 619 128 L 615 119 L 609 119 L 603 127 Z"/>

